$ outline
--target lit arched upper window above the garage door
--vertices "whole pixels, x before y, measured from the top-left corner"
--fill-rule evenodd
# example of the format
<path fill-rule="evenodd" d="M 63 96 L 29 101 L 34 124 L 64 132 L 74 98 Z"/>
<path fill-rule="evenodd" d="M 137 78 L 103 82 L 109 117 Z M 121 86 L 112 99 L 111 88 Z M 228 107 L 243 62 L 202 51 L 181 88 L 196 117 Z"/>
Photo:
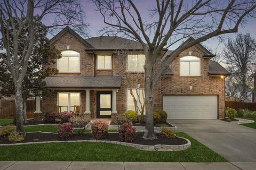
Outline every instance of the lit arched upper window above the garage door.
<path fill-rule="evenodd" d="M 180 76 L 200 76 L 200 58 L 195 56 L 185 56 L 180 58 Z"/>

